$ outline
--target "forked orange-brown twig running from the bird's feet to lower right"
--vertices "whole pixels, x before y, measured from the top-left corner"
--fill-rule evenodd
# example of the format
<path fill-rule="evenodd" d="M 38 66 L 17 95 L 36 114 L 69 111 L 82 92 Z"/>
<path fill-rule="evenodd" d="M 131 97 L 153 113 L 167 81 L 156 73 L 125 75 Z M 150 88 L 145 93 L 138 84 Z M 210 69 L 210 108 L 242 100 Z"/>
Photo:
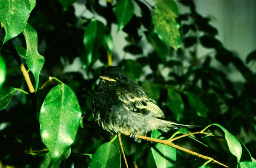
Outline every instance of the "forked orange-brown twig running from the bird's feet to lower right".
<path fill-rule="evenodd" d="M 196 132 L 196 133 L 185 134 L 185 136 L 193 135 L 193 134 L 202 134 L 202 132 L 200 131 L 200 132 Z M 178 136 L 178 137 L 173 138 L 171 140 L 160 140 L 160 139 L 150 138 L 150 137 L 142 136 L 142 135 L 136 135 L 136 138 L 144 139 L 144 140 L 151 141 L 151 142 L 162 143 L 164 145 L 168 145 L 168 146 L 171 146 L 171 147 L 176 148 L 178 150 L 182 150 L 184 152 L 190 153 L 191 155 L 203 158 L 205 160 L 210 160 L 211 162 L 220 164 L 220 165 L 222 165 L 224 167 L 228 167 L 227 165 L 222 164 L 222 163 L 218 162 L 217 160 L 214 160 L 212 157 L 201 155 L 199 153 L 193 152 L 192 150 L 188 150 L 186 148 L 182 148 L 182 147 L 180 147 L 178 145 L 175 145 L 175 144 L 171 143 L 172 141 L 177 140 L 177 139 L 182 138 L 182 137 L 185 137 L 185 136 L 181 135 L 181 136 Z"/>

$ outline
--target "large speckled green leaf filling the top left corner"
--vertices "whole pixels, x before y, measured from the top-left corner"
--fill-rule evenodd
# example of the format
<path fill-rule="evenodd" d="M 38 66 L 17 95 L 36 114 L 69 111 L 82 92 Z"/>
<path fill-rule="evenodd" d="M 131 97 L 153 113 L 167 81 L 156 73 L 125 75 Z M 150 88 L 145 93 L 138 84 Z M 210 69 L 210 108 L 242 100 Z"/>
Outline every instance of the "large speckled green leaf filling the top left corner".
<path fill-rule="evenodd" d="M 19 35 L 25 28 L 31 4 L 30 0 L 0 0 L 0 6 L 0 21 L 5 30 L 4 44 L 6 41 Z"/>

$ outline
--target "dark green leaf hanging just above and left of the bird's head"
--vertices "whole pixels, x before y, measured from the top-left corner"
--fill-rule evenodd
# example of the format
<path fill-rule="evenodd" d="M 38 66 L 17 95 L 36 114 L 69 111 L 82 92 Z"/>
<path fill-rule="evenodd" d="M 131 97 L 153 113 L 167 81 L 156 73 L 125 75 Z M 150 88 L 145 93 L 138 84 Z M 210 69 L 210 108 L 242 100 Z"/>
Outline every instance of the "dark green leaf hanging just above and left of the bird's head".
<path fill-rule="evenodd" d="M 83 55 L 82 62 L 89 66 L 100 58 L 98 50 L 103 44 L 106 33 L 106 27 L 98 20 L 92 21 L 84 33 L 84 46 L 85 54 Z"/>

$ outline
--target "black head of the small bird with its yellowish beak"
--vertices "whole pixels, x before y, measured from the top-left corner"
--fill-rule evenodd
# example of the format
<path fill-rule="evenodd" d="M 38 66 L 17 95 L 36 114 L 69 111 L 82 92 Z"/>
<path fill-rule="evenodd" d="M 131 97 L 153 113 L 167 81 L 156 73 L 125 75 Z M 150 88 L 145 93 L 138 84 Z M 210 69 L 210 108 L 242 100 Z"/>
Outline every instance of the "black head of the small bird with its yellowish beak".
<path fill-rule="evenodd" d="M 100 78 L 109 84 L 126 83 L 128 77 L 124 74 L 124 71 L 116 66 L 109 66 L 103 69 Z"/>

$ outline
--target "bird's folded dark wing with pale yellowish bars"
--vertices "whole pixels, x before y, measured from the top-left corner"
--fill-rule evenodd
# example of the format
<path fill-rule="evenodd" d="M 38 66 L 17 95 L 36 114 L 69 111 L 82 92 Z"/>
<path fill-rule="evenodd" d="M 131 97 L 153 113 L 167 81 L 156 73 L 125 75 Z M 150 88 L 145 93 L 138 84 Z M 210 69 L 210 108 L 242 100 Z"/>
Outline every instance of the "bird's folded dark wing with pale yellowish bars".
<path fill-rule="evenodd" d="M 118 90 L 117 96 L 124 103 L 127 110 L 141 114 L 151 113 L 153 117 L 164 118 L 163 111 L 148 98 L 144 91 L 128 93 L 124 90 Z"/>

